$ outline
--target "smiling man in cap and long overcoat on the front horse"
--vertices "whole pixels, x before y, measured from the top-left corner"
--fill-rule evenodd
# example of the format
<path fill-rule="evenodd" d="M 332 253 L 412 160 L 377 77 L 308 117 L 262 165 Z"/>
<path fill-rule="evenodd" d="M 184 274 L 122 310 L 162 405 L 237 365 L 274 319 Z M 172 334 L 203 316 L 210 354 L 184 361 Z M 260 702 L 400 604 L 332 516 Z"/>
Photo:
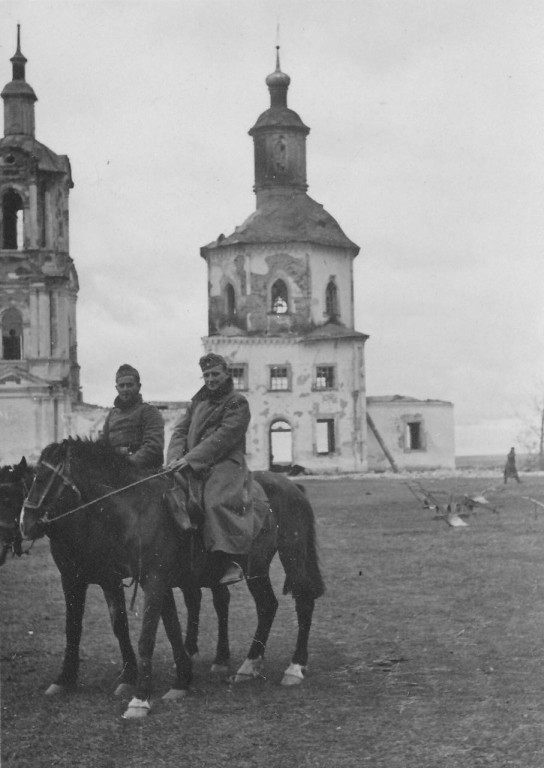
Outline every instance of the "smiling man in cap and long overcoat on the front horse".
<path fill-rule="evenodd" d="M 203 513 L 204 546 L 221 584 L 243 578 L 237 556 L 249 552 L 254 532 L 251 475 L 244 456 L 250 421 L 246 398 L 234 390 L 224 357 L 200 358 L 204 386 L 175 425 L 166 463 L 180 488 Z"/>

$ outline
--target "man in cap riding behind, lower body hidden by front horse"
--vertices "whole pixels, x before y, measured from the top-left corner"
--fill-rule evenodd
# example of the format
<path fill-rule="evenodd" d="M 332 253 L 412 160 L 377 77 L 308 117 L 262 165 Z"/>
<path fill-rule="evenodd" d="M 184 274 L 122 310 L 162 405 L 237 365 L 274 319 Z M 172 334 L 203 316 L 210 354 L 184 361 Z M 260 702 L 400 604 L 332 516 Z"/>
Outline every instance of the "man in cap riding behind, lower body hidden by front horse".
<path fill-rule="evenodd" d="M 103 439 L 138 469 L 158 469 L 163 463 L 164 420 L 154 405 L 144 403 L 136 368 L 122 365 L 115 388 L 117 397 L 106 416 Z"/>

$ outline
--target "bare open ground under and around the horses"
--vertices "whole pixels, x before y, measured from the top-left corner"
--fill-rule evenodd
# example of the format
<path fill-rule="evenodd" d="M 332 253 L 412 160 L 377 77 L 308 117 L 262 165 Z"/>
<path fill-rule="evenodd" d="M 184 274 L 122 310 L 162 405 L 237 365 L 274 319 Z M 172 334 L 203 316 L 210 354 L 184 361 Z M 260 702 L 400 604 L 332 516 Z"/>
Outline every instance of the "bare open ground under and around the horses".
<path fill-rule="evenodd" d="M 89 591 L 80 688 L 44 696 L 60 668 L 64 603 L 46 541 L 0 571 L 3 768 L 542 768 L 544 766 L 544 477 L 420 477 L 441 499 L 497 483 L 496 511 L 451 528 L 395 477 L 304 478 L 317 517 L 327 594 L 318 601 L 310 669 L 279 685 L 296 634 L 281 596 L 265 677 L 212 677 L 215 629 L 204 598 L 193 690 L 166 705 L 164 631 L 155 699 L 125 721 L 112 696 L 120 657 L 101 593 Z M 233 669 L 255 624 L 231 589 Z M 180 613 L 184 615 L 180 596 Z M 137 603 L 136 609 L 138 609 Z M 134 642 L 140 617 L 131 615 Z"/>

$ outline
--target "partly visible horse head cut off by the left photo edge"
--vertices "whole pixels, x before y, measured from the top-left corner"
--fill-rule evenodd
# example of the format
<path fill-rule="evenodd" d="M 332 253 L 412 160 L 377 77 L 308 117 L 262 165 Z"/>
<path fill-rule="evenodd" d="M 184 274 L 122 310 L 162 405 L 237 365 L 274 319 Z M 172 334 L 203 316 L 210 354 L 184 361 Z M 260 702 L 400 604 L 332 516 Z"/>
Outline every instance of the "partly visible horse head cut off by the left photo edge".
<path fill-rule="evenodd" d="M 33 477 L 24 456 L 19 464 L 0 467 L 0 566 L 10 550 L 22 554 L 19 514 Z"/>

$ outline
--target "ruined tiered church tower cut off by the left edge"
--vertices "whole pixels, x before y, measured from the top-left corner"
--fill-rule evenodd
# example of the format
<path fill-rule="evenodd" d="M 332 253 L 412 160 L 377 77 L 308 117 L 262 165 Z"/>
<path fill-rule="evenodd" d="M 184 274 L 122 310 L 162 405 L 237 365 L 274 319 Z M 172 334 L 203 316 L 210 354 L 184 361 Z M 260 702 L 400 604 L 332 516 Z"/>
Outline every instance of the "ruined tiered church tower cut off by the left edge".
<path fill-rule="evenodd" d="M 28 455 L 64 437 L 80 399 L 78 279 L 69 254 L 70 162 L 35 138 L 37 98 L 26 82 L 19 28 L 11 63 L 1 94 L 0 431 L 12 454 Z"/>

